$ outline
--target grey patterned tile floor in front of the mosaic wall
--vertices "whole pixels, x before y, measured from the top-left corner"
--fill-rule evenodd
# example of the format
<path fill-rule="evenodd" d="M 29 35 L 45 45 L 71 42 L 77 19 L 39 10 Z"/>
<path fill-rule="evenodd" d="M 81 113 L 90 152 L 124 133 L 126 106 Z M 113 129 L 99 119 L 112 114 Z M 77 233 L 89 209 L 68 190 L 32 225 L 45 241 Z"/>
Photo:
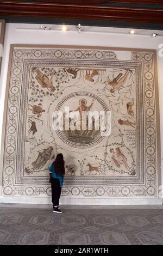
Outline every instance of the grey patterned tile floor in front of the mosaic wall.
<path fill-rule="evenodd" d="M 0 204 L 1 245 L 163 245 L 163 206 Z"/>

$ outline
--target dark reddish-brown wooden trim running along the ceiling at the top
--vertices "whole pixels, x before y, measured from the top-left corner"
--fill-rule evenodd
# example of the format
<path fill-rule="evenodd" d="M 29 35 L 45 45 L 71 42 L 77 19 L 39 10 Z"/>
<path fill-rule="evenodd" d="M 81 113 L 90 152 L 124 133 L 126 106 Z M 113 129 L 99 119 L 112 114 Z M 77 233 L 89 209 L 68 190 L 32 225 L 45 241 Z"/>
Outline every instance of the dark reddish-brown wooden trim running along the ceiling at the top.
<path fill-rule="evenodd" d="M 0 2 L 0 17 L 62 17 L 67 19 L 107 20 L 163 24 L 163 9 L 110 7 L 97 5 Z"/>

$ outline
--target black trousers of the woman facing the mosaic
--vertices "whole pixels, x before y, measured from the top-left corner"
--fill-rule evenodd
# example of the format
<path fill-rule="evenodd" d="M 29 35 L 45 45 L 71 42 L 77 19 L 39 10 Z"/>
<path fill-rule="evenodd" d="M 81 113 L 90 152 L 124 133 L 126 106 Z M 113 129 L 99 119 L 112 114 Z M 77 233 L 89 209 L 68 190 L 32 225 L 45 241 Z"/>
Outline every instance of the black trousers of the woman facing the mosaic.
<path fill-rule="evenodd" d="M 53 205 L 59 205 L 59 198 L 61 194 L 61 187 L 59 179 L 52 178 L 52 203 Z"/>

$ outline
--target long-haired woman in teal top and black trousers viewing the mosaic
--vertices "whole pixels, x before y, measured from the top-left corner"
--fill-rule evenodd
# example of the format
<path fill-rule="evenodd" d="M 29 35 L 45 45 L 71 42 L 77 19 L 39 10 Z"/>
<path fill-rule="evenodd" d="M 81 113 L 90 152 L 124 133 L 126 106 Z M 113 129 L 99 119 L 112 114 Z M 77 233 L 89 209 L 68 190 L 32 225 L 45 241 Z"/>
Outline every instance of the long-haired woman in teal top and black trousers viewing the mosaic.
<path fill-rule="evenodd" d="M 61 188 L 64 182 L 65 175 L 65 163 L 62 154 L 58 154 L 55 161 L 49 167 L 50 180 L 52 185 L 52 203 L 53 212 L 57 214 L 62 214 L 59 206 L 59 199 L 61 194 Z"/>

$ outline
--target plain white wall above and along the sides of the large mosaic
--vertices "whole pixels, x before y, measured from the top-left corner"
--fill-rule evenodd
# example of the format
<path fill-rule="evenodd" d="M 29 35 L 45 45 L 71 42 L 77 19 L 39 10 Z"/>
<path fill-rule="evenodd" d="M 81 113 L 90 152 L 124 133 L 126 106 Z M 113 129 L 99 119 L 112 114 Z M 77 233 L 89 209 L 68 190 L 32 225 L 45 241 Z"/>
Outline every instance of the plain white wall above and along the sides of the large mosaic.
<path fill-rule="evenodd" d="M 140 35 L 130 35 L 130 29 L 121 28 L 98 28 L 85 27 L 84 31 L 78 33 L 74 26 L 70 26 L 70 31 L 66 33 L 58 31 L 41 31 L 41 25 L 34 24 L 12 24 L 6 26 L 4 53 L 0 80 L 0 145 L 2 136 L 3 108 L 5 100 L 5 86 L 7 81 L 8 59 L 10 44 L 44 44 L 44 45 L 82 45 L 82 46 L 106 46 L 106 47 L 129 47 L 159 49 L 159 44 L 163 43 L 163 31 L 156 32 L 162 36 L 148 36 L 152 31 L 137 30 Z M 51 25 L 49 25 L 51 26 Z M 53 26 L 60 29 L 60 26 Z M 19 29 L 17 29 L 19 28 Z M 29 28 L 29 29 L 28 29 Z M 31 29 L 30 29 L 31 28 Z M 109 33 L 108 33 L 109 32 Z M 123 34 L 124 33 L 124 34 Z M 163 57 L 158 55 L 159 72 L 159 105 L 160 105 L 160 130 L 161 130 L 161 159 L 163 159 Z M 1 148 L 0 148 L 1 150 Z M 2 171 L 2 170 L 0 170 Z M 162 171 L 163 184 L 163 171 Z M 115 201 L 114 201 L 115 202 Z"/>

